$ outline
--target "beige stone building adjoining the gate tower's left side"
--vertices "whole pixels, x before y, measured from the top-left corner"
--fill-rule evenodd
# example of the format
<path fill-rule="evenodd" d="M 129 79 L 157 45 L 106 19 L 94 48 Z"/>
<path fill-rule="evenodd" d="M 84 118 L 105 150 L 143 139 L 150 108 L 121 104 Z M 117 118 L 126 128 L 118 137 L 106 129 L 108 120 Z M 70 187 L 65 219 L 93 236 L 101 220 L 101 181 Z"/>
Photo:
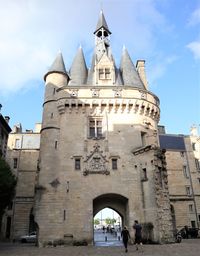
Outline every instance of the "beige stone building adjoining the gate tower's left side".
<path fill-rule="evenodd" d="M 34 131 L 23 132 L 18 124 L 9 135 L 6 160 L 17 177 L 17 187 L 13 204 L 6 210 L 2 221 L 1 232 L 8 239 L 15 240 L 35 230 L 33 206 L 40 129 L 41 124 L 36 124 Z"/>

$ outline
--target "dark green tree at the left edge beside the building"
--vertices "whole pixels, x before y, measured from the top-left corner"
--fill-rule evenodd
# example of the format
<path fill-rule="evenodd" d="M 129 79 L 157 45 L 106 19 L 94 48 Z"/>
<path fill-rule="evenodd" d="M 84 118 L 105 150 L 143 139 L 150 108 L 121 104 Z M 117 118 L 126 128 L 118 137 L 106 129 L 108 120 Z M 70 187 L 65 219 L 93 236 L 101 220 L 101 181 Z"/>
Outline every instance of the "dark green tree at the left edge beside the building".
<path fill-rule="evenodd" d="M 4 210 L 15 194 L 16 182 L 10 166 L 0 157 L 0 226 Z"/>

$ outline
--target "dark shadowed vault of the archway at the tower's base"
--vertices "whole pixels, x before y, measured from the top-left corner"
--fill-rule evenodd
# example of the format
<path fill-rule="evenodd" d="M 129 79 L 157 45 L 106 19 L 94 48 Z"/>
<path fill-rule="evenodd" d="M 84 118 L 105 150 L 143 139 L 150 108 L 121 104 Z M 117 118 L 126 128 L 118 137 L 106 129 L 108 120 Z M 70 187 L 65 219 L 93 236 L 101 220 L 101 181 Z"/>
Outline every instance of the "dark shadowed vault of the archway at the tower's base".
<path fill-rule="evenodd" d="M 128 225 L 128 198 L 115 193 L 102 194 L 93 199 L 93 217 L 104 208 L 116 211 L 122 218 L 122 225 Z"/>

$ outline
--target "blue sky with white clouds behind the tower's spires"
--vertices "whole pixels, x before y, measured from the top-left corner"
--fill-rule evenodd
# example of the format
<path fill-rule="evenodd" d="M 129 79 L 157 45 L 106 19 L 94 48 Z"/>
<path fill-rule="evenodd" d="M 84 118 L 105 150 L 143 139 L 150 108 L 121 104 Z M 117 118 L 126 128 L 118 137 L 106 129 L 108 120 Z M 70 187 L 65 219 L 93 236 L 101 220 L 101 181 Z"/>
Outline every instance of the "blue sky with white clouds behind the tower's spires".
<path fill-rule="evenodd" d="M 101 8 L 117 66 L 123 45 L 134 63 L 145 59 L 160 124 L 189 134 L 200 124 L 199 0 L 0 0 L 0 103 L 10 126 L 41 122 L 43 76 L 59 50 L 69 69 L 81 44 L 90 66 Z"/>

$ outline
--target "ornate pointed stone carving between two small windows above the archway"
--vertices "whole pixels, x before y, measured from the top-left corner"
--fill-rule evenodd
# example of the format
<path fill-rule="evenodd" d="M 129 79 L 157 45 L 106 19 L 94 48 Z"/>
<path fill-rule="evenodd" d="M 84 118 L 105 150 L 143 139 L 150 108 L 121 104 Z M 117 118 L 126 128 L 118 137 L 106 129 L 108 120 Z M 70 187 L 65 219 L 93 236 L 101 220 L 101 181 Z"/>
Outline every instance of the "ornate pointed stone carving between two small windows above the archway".
<path fill-rule="evenodd" d="M 85 168 L 83 175 L 88 174 L 105 174 L 109 175 L 110 172 L 107 170 L 106 157 L 103 156 L 103 151 L 100 150 L 100 146 L 96 143 L 94 145 L 94 150 L 91 154 L 87 156 L 85 160 Z"/>

